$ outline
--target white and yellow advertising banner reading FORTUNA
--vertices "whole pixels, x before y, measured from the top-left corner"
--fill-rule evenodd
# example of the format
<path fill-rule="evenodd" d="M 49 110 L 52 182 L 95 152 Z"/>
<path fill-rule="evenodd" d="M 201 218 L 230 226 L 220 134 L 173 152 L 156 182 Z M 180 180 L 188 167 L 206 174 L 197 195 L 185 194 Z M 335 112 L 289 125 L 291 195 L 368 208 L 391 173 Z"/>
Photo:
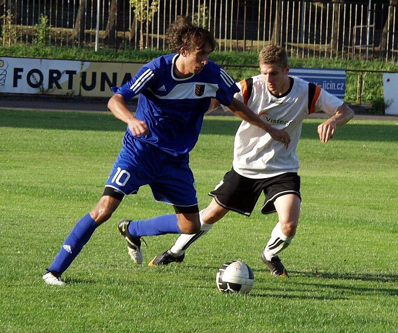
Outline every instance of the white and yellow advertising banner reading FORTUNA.
<path fill-rule="evenodd" d="M 142 65 L 0 57 L 0 93 L 110 97 Z"/>

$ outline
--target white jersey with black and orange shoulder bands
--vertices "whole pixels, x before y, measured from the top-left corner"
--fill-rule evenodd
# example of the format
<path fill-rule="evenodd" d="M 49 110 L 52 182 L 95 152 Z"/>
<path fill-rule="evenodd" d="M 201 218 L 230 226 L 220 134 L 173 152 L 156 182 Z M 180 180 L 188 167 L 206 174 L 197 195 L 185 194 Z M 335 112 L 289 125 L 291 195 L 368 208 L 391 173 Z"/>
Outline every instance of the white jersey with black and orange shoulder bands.
<path fill-rule="evenodd" d="M 292 80 L 293 79 L 293 80 Z M 234 142 L 233 169 L 248 178 L 269 178 L 286 172 L 298 172 L 296 153 L 303 119 L 312 112 L 333 115 L 343 102 L 319 86 L 291 77 L 291 87 L 282 96 L 272 95 L 263 75 L 238 84 L 235 98 L 245 103 L 266 123 L 289 133 L 288 149 L 263 129 L 242 121 Z"/>

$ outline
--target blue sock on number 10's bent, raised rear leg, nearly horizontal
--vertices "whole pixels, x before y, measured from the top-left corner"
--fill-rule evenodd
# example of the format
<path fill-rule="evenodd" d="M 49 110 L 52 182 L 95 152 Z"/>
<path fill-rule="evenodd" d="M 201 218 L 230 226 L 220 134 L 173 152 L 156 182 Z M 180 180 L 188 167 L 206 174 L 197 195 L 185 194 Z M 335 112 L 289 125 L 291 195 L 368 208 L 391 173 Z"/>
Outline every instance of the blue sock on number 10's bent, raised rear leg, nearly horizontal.
<path fill-rule="evenodd" d="M 182 233 L 178 227 L 177 215 L 161 215 L 153 219 L 132 221 L 128 232 L 133 237 L 156 236 L 166 233 Z"/>

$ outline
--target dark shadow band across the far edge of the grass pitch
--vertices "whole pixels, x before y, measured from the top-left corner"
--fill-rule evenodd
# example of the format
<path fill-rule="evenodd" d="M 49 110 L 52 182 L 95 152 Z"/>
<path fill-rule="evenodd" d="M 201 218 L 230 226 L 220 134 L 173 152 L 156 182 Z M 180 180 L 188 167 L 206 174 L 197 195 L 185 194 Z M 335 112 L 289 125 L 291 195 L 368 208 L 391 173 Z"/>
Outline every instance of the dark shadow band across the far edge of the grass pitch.
<path fill-rule="evenodd" d="M 48 111 L 9 111 L 0 110 L 0 126 L 16 128 L 43 128 L 67 130 L 98 130 L 123 132 L 126 125 L 110 112 L 48 112 Z M 318 139 L 315 122 L 304 122 L 302 138 Z M 239 126 L 237 117 L 224 116 L 204 118 L 202 134 L 234 136 Z M 394 121 L 373 125 L 367 123 L 346 124 L 337 130 L 333 140 L 353 141 L 398 141 L 398 126 Z"/>

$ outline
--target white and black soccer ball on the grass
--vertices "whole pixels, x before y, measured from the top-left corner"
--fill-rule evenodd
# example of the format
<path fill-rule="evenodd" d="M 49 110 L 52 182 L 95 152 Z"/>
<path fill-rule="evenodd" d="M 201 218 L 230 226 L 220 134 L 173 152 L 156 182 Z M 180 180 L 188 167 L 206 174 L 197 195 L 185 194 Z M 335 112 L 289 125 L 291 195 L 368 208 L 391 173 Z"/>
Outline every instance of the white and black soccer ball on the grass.
<path fill-rule="evenodd" d="M 247 294 L 253 288 L 254 274 L 248 264 L 228 261 L 218 269 L 215 282 L 223 293 Z"/>

